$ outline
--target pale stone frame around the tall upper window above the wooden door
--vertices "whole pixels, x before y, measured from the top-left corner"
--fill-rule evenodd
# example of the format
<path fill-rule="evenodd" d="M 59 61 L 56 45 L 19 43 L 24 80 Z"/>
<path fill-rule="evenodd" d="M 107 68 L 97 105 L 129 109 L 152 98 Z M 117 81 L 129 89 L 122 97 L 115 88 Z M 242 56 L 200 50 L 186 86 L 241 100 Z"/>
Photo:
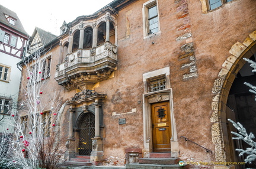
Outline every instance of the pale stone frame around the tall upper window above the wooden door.
<path fill-rule="evenodd" d="M 157 12 L 158 12 L 158 32 L 149 34 L 149 25 L 148 25 L 148 9 L 152 6 L 156 5 Z M 148 38 L 152 37 L 153 35 L 160 34 L 160 18 L 159 18 L 159 8 L 158 8 L 158 0 L 150 0 L 145 2 L 142 7 L 142 17 L 143 17 L 143 37 Z"/>

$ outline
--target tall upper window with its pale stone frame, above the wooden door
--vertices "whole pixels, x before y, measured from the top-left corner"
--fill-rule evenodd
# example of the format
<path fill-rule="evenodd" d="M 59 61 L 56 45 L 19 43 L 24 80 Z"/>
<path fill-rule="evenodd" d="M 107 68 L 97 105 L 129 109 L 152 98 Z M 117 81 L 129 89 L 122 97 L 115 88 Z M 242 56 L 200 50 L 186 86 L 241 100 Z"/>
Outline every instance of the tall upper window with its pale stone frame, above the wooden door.
<path fill-rule="evenodd" d="M 143 35 L 147 37 L 160 31 L 157 0 L 145 2 L 142 8 Z"/>

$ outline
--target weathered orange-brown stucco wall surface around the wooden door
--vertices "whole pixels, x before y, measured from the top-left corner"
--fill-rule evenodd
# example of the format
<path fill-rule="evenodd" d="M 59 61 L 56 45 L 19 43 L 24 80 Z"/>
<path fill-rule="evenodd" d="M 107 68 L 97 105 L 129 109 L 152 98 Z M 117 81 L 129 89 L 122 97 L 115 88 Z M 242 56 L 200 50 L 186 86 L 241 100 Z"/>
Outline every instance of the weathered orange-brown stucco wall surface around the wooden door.
<path fill-rule="evenodd" d="M 215 128 L 219 128 L 219 124 L 213 120 L 213 116 L 217 116 L 215 100 L 218 98 L 212 89 L 217 83 L 216 79 L 219 79 L 218 74 L 227 72 L 229 63 L 232 65 L 233 58 L 230 56 L 236 55 L 233 44 L 236 41 L 243 43 L 256 29 L 256 1 L 234 0 L 209 12 L 202 12 L 203 1 L 158 1 L 161 32 L 143 37 L 142 7 L 145 2 L 135 1 L 120 9 L 116 17 L 117 67 L 111 78 L 95 86 L 87 86 L 107 95 L 102 106 L 104 128 L 101 129 L 105 164 L 124 164 L 127 149 L 145 150 L 143 74 L 164 67 L 169 67 L 178 156 L 186 161 L 226 161 L 225 147 L 220 137 L 222 134 L 218 133 L 221 129 L 214 132 Z M 246 48 L 249 41 L 247 39 L 242 47 Z M 50 51 L 51 76 L 46 79 L 49 87 L 45 92 L 61 91 L 63 104 L 79 90 L 68 92 L 57 85 L 54 74 L 59 64 L 59 50 L 59 45 L 56 45 Z M 229 61 L 228 64 L 225 61 Z M 23 80 L 21 83 L 24 85 L 26 82 Z M 20 100 L 23 95 L 21 89 Z M 136 111 L 132 112 L 132 109 Z M 119 125 L 120 118 L 126 118 L 126 124 Z M 151 121 L 148 123 L 151 124 Z M 60 124 L 68 129 L 68 107 L 63 111 Z M 181 136 L 206 147 L 213 154 L 186 142 Z M 68 137 L 66 132 L 63 132 L 63 137 Z M 216 139 L 220 144 L 216 144 Z"/>

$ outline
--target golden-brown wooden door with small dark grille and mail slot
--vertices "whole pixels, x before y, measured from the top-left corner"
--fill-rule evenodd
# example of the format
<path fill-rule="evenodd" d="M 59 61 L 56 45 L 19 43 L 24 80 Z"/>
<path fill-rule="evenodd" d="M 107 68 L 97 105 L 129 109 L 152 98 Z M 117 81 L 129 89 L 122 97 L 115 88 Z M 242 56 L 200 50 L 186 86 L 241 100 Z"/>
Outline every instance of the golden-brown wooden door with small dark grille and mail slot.
<path fill-rule="evenodd" d="M 152 112 L 153 152 L 171 151 L 171 119 L 169 102 L 154 103 Z"/>

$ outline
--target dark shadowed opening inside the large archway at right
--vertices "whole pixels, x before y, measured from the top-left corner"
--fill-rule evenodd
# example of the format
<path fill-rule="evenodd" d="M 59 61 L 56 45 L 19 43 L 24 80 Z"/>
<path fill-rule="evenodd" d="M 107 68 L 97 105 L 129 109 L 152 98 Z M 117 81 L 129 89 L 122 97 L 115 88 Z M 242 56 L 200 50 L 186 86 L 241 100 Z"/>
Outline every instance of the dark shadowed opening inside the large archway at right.
<path fill-rule="evenodd" d="M 256 53 L 252 54 L 249 58 L 255 61 Z M 249 87 L 244 85 L 244 82 L 248 82 L 253 86 L 256 86 L 256 73 L 252 73 L 252 67 L 246 62 L 244 66 L 236 74 L 235 80 L 233 80 L 231 89 L 229 90 L 228 100 L 226 103 L 226 119 L 232 119 L 232 121 L 241 123 L 247 133 L 252 132 L 256 134 L 256 101 L 255 94 L 249 92 Z M 236 148 L 245 150 L 249 148 L 249 145 L 241 140 L 232 140 L 234 135 L 231 131 L 236 132 L 236 128 L 232 126 L 231 122 L 227 121 L 229 146 L 231 147 L 231 159 L 233 161 L 244 162 L 247 155 L 239 156 L 239 152 L 235 151 Z M 256 168 L 255 164 L 245 164 L 237 166 L 237 168 Z"/>

